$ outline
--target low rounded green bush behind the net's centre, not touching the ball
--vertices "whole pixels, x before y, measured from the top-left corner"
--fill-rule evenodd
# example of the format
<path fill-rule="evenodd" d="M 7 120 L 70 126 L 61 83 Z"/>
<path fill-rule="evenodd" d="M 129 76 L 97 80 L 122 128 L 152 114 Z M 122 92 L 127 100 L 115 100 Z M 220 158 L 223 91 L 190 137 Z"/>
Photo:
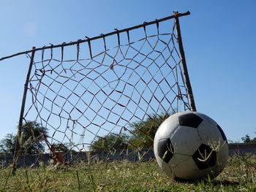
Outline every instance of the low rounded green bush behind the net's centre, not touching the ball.
<path fill-rule="evenodd" d="M 91 145 L 91 150 L 120 150 L 128 145 L 129 136 L 127 134 L 108 134 L 100 137 Z"/>

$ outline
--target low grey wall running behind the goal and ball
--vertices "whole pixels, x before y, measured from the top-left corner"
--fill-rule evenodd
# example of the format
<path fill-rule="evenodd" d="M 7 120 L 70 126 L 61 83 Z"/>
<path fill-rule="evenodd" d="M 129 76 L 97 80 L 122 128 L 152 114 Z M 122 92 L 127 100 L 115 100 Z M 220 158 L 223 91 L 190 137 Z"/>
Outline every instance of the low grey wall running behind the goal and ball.
<path fill-rule="evenodd" d="M 229 144 L 229 153 L 233 155 L 234 153 L 255 153 L 256 154 L 256 143 L 232 143 Z M 75 156 L 75 158 L 73 158 Z M 84 162 L 88 164 L 89 162 L 98 162 L 98 161 L 149 161 L 154 159 L 153 150 L 142 149 L 140 151 L 127 150 L 124 153 L 124 150 L 117 150 L 116 153 L 110 154 L 107 151 L 91 151 L 91 152 L 72 152 L 65 153 L 64 157 L 67 161 L 72 160 L 73 163 Z M 37 167 L 39 162 L 48 164 L 52 159 L 50 153 L 39 154 L 39 155 L 23 155 L 18 159 L 18 167 Z M 10 166 L 12 164 L 12 156 L 0 156 L 0 165 L 1 167 Z"/>

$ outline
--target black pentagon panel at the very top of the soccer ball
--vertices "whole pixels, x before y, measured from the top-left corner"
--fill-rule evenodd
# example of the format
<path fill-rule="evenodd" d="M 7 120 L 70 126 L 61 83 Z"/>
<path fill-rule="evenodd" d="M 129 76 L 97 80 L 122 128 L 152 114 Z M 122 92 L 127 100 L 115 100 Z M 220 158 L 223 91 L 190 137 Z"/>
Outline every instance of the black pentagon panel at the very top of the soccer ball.
<path fill-rule="evenodd" d="M 202 123 L 203 119 L 194 113 L 187 113 L 178 117 L 179 124 L 181 126 L 189 126 L 197 128 L 200 123 Z"/>

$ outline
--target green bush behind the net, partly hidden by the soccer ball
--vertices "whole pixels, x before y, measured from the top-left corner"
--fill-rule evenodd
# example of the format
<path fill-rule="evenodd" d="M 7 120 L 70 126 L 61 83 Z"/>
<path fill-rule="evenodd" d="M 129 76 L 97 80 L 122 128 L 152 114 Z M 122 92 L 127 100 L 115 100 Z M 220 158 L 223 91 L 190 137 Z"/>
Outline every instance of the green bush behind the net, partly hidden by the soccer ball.
<path fill-rule="evenodd" d="M 161 115 L 151 115 L 146 120 L 141 120 L 131 124 L 132 136 L 129 142 L 139 147 L 152 147 L 154 135 L 161 123 L 170 116 L 169 113 Z"/>

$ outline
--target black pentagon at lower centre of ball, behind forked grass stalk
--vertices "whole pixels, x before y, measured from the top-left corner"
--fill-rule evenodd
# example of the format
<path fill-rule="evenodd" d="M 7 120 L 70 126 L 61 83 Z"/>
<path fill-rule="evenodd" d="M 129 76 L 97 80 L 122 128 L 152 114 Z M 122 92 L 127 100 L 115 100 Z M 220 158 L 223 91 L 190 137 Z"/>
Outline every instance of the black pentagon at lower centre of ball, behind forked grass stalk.
<path fill-rule="evenodd" d="M 208 169 L 216 164 L 217 153 L 212 151 L 208 145 L 200 145 L 198 150 L 192 155 L 192 158 L 197 164 L 198 169 Z"/>

